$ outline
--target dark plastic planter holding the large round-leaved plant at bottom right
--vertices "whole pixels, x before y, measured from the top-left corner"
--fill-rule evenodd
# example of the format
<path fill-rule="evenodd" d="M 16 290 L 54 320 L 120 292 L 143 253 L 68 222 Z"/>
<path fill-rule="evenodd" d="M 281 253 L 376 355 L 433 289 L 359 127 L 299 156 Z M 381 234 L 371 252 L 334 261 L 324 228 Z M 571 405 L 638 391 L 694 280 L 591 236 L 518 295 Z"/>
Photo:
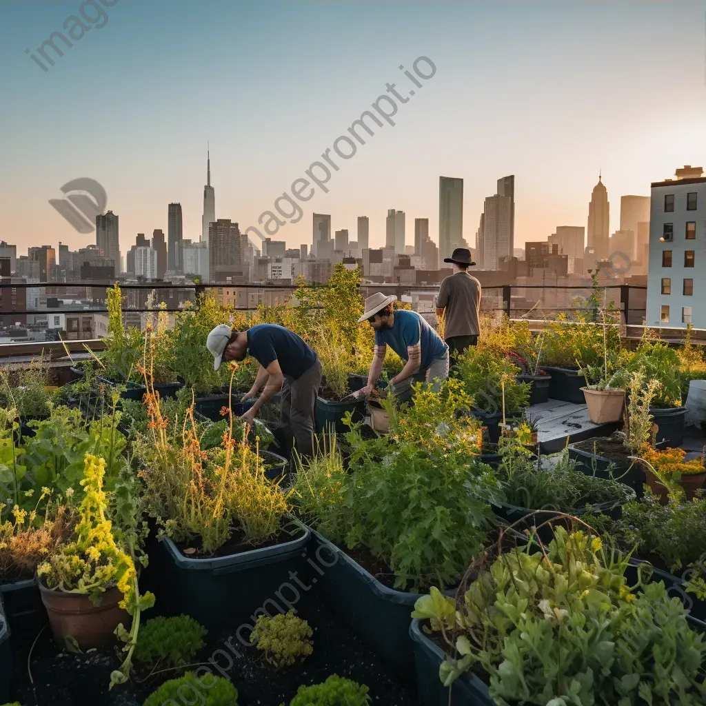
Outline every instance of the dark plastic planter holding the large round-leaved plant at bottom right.
<path fill-rule="evenodd" d="M 450 687 L 443 686 L 439 667 L 446 656 L 424 635 L 418 620 L 409 626 L 409 638 L 417 667 L 419 706 L 495 706 L 488 687 L 471 672 L 462 674 Z"/>

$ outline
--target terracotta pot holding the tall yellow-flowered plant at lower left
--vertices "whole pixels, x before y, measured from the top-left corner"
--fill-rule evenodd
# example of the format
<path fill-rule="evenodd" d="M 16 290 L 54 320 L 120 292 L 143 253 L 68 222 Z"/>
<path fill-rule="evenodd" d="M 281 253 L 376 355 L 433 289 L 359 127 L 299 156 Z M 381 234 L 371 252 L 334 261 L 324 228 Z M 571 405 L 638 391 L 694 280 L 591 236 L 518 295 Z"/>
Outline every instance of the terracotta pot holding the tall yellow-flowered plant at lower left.
<path fill-rule="evenodd" d="M 52 590 L 42 585 L 41 581 L 37 582 L 49 614 L 54 641 L 59 647 L 64 647 L 67 635 L 75 638 L 82 650 L 103 647 L 116 640 L 113 633 L 120 623 L 129 630 L 132 618 L 118 606 L 123 599 L 118 589 L 107 590 L 102 595 L 100 606 L 94 606 L 87 595 Z"/>

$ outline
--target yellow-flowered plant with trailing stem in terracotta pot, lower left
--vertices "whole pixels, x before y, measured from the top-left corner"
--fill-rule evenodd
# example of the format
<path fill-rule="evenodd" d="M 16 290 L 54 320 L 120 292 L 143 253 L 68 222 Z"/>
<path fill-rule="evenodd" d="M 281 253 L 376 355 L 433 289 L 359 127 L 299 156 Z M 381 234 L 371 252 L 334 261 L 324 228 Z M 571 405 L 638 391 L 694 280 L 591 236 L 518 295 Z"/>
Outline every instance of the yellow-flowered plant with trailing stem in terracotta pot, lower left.
<path fill-rule="evenodd" d="M 69 635 L 82 650 L 102 647 L 114 635 L 128 644 L 121 670 L 112 674 L 112 683 L 121 683 L 129 671 L 140 612 L 150 608 L 155 597 L 140 596 L 134 558 L 139 548 L 127 532 L 116 534 L 108 519 L 104 473 L 105 461 L 87 454 L 80 482 L 84 496 L 71 542 L 37 567 L 37 577 L 58 645 Z M 124 542 L 116 542 L 116 536 Z M 133 618 L 129 633 L 122 627 L 128 616 Z"/>

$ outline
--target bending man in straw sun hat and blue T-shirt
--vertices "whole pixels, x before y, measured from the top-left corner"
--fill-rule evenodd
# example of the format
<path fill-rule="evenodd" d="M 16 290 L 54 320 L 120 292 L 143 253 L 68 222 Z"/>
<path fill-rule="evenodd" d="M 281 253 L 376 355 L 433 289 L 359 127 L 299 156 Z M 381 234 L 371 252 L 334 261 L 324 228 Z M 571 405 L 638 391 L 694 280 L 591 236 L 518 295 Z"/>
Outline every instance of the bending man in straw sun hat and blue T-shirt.
<path fill-rule="evenodd" d="M 400 402 L 412 397 L 412 383 L 448 378 L 448 346 L 416 311 L 393 309 L 395 295 L 376 292 L 365 300 L 365 313 L 358 323 L 368 321 L 375 330 L 375 352 L 368 384 L 359 390 L 370 395 L 380 377 L 388 345 L 405 361 L 405 367 L 390 380 L 390 392 Z"/>

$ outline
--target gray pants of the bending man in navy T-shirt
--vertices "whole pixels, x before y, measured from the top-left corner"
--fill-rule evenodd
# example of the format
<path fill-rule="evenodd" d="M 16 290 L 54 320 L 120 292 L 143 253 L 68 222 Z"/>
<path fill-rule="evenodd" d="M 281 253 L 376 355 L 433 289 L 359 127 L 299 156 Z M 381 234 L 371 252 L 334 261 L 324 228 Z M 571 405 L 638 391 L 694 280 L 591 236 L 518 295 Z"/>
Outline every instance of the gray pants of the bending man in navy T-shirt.
<path fill-rule="evenodd" d="M 282 425 L 287 437 L 294 437 L 301 455 L 313 455 L 314 415 L 320 387 L 321 362 L 318 359 L 296 380 L 285 376 L 282 384 Z"/>

